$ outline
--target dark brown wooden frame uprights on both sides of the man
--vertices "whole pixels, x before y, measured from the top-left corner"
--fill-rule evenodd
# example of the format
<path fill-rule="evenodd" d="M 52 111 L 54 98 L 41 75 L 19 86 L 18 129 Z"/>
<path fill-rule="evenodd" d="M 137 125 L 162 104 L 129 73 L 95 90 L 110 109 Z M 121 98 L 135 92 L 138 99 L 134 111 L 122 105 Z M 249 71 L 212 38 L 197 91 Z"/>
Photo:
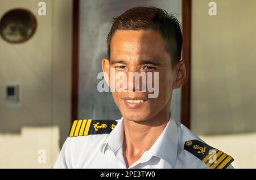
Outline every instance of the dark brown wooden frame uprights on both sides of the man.
<path fill-rule="evenodd" d="M 79 95 L 79 2 L 73 0 L 73 31 L 72 31 L 72 104 L 71 122 L 78 118 Z M 190 128 L 190 91 L 191 91 L 191 0 L 182 1 L 183 29 L 183 60 L 188 65 L 187 83 L 181 89 L 181 123 Z"/>

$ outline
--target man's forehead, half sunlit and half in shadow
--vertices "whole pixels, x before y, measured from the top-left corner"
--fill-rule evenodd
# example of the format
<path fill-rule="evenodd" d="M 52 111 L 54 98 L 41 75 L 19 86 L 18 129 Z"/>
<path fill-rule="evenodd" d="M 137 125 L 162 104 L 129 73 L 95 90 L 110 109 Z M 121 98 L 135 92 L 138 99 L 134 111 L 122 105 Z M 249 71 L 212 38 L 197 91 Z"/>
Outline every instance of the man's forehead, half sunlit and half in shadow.
<path fill-rule="evenodd" d="M 155 30 L 117 30 L 110 44 L 110 58 L 168 58 L 164 39 Z"/>

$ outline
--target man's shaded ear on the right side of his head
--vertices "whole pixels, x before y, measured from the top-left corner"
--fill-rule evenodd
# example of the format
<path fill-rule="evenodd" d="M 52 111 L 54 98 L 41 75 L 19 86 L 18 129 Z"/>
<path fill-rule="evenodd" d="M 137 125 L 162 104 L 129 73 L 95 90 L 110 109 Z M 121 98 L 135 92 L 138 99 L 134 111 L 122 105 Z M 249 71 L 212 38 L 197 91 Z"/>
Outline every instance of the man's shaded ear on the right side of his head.
<path fill-rule="evenodd" d="M 186 61 L 181 60 L 175 66 L 175 79 L 172 89 L 178 89 L 187 81 L 187 64 Z"/>

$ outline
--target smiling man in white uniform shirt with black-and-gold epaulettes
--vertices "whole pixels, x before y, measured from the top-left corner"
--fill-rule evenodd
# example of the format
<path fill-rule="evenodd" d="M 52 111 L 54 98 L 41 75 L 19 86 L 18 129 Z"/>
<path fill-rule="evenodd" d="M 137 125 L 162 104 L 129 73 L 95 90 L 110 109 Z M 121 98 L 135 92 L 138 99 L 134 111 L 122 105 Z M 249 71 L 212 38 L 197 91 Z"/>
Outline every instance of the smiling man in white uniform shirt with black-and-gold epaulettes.
<path fill-rule="evenodd" d="M 187 76 L 182 42 L 178 20 L 162 9 L 135 7 L 115 18 L 109 58 L 102 60 L 106 82 L 116 84 L 117 73 L 153 73 L 159 94 L 149 98 L 133 78 L 126 81 L 122 91 L 112 92 L 123 117 L 76 120 L 55 168 L 232 168 L 231 156 L 171 119 L 172 91 Z"/>

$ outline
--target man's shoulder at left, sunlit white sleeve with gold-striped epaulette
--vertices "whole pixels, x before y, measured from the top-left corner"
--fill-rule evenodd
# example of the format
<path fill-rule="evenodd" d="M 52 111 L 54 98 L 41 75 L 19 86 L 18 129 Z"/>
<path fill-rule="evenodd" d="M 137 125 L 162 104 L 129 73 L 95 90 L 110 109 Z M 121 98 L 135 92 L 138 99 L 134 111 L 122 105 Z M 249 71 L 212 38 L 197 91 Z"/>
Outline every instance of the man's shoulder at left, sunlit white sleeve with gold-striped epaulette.
<path fill-rule="evenodd" d="M 116 120 L 75 120 L 55 167 L 76 168 L 83 158 L 101 148 L 117 122 Z"/>

